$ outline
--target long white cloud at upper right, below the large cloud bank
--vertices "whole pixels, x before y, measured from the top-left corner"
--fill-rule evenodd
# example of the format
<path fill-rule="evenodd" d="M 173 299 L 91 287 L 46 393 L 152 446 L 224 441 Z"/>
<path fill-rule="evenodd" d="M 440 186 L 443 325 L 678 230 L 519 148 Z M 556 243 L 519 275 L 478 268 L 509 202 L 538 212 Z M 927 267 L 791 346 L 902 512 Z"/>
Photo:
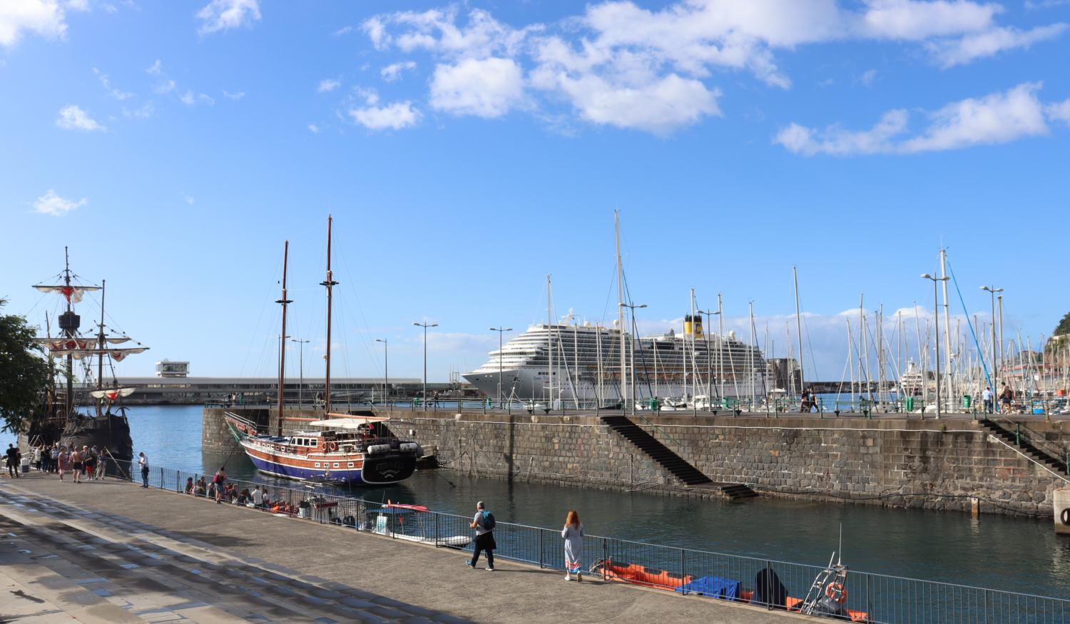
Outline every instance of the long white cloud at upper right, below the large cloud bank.
<path fill-rule="evenodd" d="M 1039 89 L 1039 83 L 1024 82 L 1004 92 L 953 102 L 930 113 L 929 125 L 914 136 L 906 135 L 910 113 L 891 110 L 867 131 L 838 125 L 816 131 L 792 123 L 774 142 L 808 156 L 912 154 L 1005 143 L 1048 133 L 1043 105 L 1036 96 Z"/>

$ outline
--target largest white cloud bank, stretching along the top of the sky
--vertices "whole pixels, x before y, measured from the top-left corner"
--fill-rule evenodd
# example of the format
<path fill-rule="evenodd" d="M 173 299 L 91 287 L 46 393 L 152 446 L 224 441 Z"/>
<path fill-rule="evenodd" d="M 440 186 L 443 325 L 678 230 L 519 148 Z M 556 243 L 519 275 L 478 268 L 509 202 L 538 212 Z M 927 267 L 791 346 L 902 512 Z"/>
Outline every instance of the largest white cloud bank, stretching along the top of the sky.
<path fill-rule="evenodd" d="M 677 0 L 657 10 L 605 0 L 551 25 L 511 26 L 487 11 L 450 5 L 376 15 L 361 30 L 377 49 L 431 55 L 434 108 L 498 117 L 522 103 L 560 119 L 542 109 L 564 103 L 588 122 L 667 134 L 719 115 L 716 83 L 724 72 L 791 88 L 777 55 L 804 45 L 899 43 L 950 67 L 1066 30 L 1061 24 L 1021 30 L 1005 18 L 999 4 L 985 0 Z M 465 75 L 474 62 L 487 64 Z M 395 78 L 396 67 L 384 69 L 383 78 Z M 503 100 L 506 85 L 487 70 L 506 69 L 510 91 Z M 870 70 L 859 80 L 868 86 L 875 76 Z"/>

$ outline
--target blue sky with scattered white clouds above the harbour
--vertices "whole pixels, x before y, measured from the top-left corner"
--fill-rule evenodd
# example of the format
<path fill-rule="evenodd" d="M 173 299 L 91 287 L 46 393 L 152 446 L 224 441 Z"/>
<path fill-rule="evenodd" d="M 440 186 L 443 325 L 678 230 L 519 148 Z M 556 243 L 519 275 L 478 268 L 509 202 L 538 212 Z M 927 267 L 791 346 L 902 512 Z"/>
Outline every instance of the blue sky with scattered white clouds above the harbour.
<path fill-rule="evenodd" d="M 1008 339 L 1036 341 L 1068 308 L 1067 22 L 1059 0 L 7 0 L 0 295 L 42 322 L 29 286 L 68 245 L 152 347 L 121 375 L 272 375 L 289 239 L 319 374 L 331 213 L 336 375 L 378 375 L 379 337 L 417 377 L 427 319 L 445 380 L 487 328 L 545 319 L 548 273 L 557 316 L 615 317 L 616 209 L 645 329 L 720 291 L 782 354 L 796 264 L 808 363 L 839 379 L 841 313 L 931 308 L 943 244 L 968 314 L 1002 286 Z"/>

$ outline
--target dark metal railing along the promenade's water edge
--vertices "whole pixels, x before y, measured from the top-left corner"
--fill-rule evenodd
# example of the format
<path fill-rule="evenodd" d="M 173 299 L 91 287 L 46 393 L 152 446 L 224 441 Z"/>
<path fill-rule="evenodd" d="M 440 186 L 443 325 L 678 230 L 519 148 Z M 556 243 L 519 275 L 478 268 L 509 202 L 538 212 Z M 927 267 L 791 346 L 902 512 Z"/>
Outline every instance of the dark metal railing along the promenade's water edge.
<path fill-rule="evenodd" d="M 132 470 L 133 469 L 133 470 Z M 127 462 L 112 465 L 109 474 L 138 481 L 137 467 Z M 197 483 L 212 475 L 166 468 L 153 468 L 149 485 L 183 492 L 187 478 Z M 228 480 L 239 492 L 260 486 L 270 501 L 269 513 L 281 513 L 308 521 L 349 527 L 355 531 L 374 527 L 374 516 L 388 501 L 345 496 L 326 488 L 279 486 L 260 482 Z M 373 491 L 373 490 L 372 490 Z M 208 492 L 195 492 L 203 497 Z M 278 503 L 276 505 L 276 503 Z M 247 505 L 251 506 L 251 504 Z M 254 513 L 254 508 L 249 512 Z M 491 507 L 490 509 L 494 509 Z M 474 509 L 473 509 L 474 512 Z M 260 513 L 263 513 L 261 511 Z M 458 547 L 458 536 L 474 537 L 471 516 L 443 512 L 417 512 L 415 523 L 397 533 L 387 523 L 386 535 L 396 538 L 418 537 L 442 548 L 472 551 L 472 544 Z M 498 549 L 495 559 L 564 569 L 561 531 L 498 520 L 494 527 Z M 831 550 L 831 548 L 830 548 Z M 895 553 L 888 553 L 895 557 Z M 846 562 L 850 563 L 850 562 Z M 716 552 L 647 544 L 630 539 L 588 534 L 583 539 L 584 569 L 607 581 L 633 582 L 673 591 L 760 605 L 767 609 L 798 610 L 810 594 L 814 580 L 826 570 L 824 565 L 795 563 L 771 558 Z M 761 580 L 759 577 L 763 577 Z M 625 579 L 628 579 L 625 581 Z M 759 584 L 782 591 L 756 591 Z M 843 583 L 841 621 L 874 624 L 1070 624 L 1070 600 L 1005 590 L 970 587 L 941 581 L 906 578 L 886 574 L 850 570 Z M 823 593 L 819 589 L 819 593 Z M 840 595 L 840 594 L 837 594 Z M 827 618 L 826 618 L 827 619 Z"/>

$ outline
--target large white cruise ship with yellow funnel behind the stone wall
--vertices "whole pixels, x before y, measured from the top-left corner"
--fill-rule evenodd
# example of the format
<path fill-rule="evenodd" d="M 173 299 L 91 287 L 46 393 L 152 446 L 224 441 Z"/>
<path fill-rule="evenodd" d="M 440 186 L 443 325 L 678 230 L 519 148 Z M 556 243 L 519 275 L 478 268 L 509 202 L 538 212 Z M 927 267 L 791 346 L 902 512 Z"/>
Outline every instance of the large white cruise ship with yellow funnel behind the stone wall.
<path fill-rule="evenodd" d="M 716 405 L 721 397 L 764 397 L 771 390 L 761 350 L 736 339 L 734 332 L 723 338 L 704 334 L 699 315 L 685 317 L 683 333 L 625 338 L 623 367 L 621 332 L 613 325 L 532 325 L 463 377 L 493 400 L 501 396 L 555 408 L 613 408 L 630 397 L 643 402 L 658 397 L 667 407 Z"/>

